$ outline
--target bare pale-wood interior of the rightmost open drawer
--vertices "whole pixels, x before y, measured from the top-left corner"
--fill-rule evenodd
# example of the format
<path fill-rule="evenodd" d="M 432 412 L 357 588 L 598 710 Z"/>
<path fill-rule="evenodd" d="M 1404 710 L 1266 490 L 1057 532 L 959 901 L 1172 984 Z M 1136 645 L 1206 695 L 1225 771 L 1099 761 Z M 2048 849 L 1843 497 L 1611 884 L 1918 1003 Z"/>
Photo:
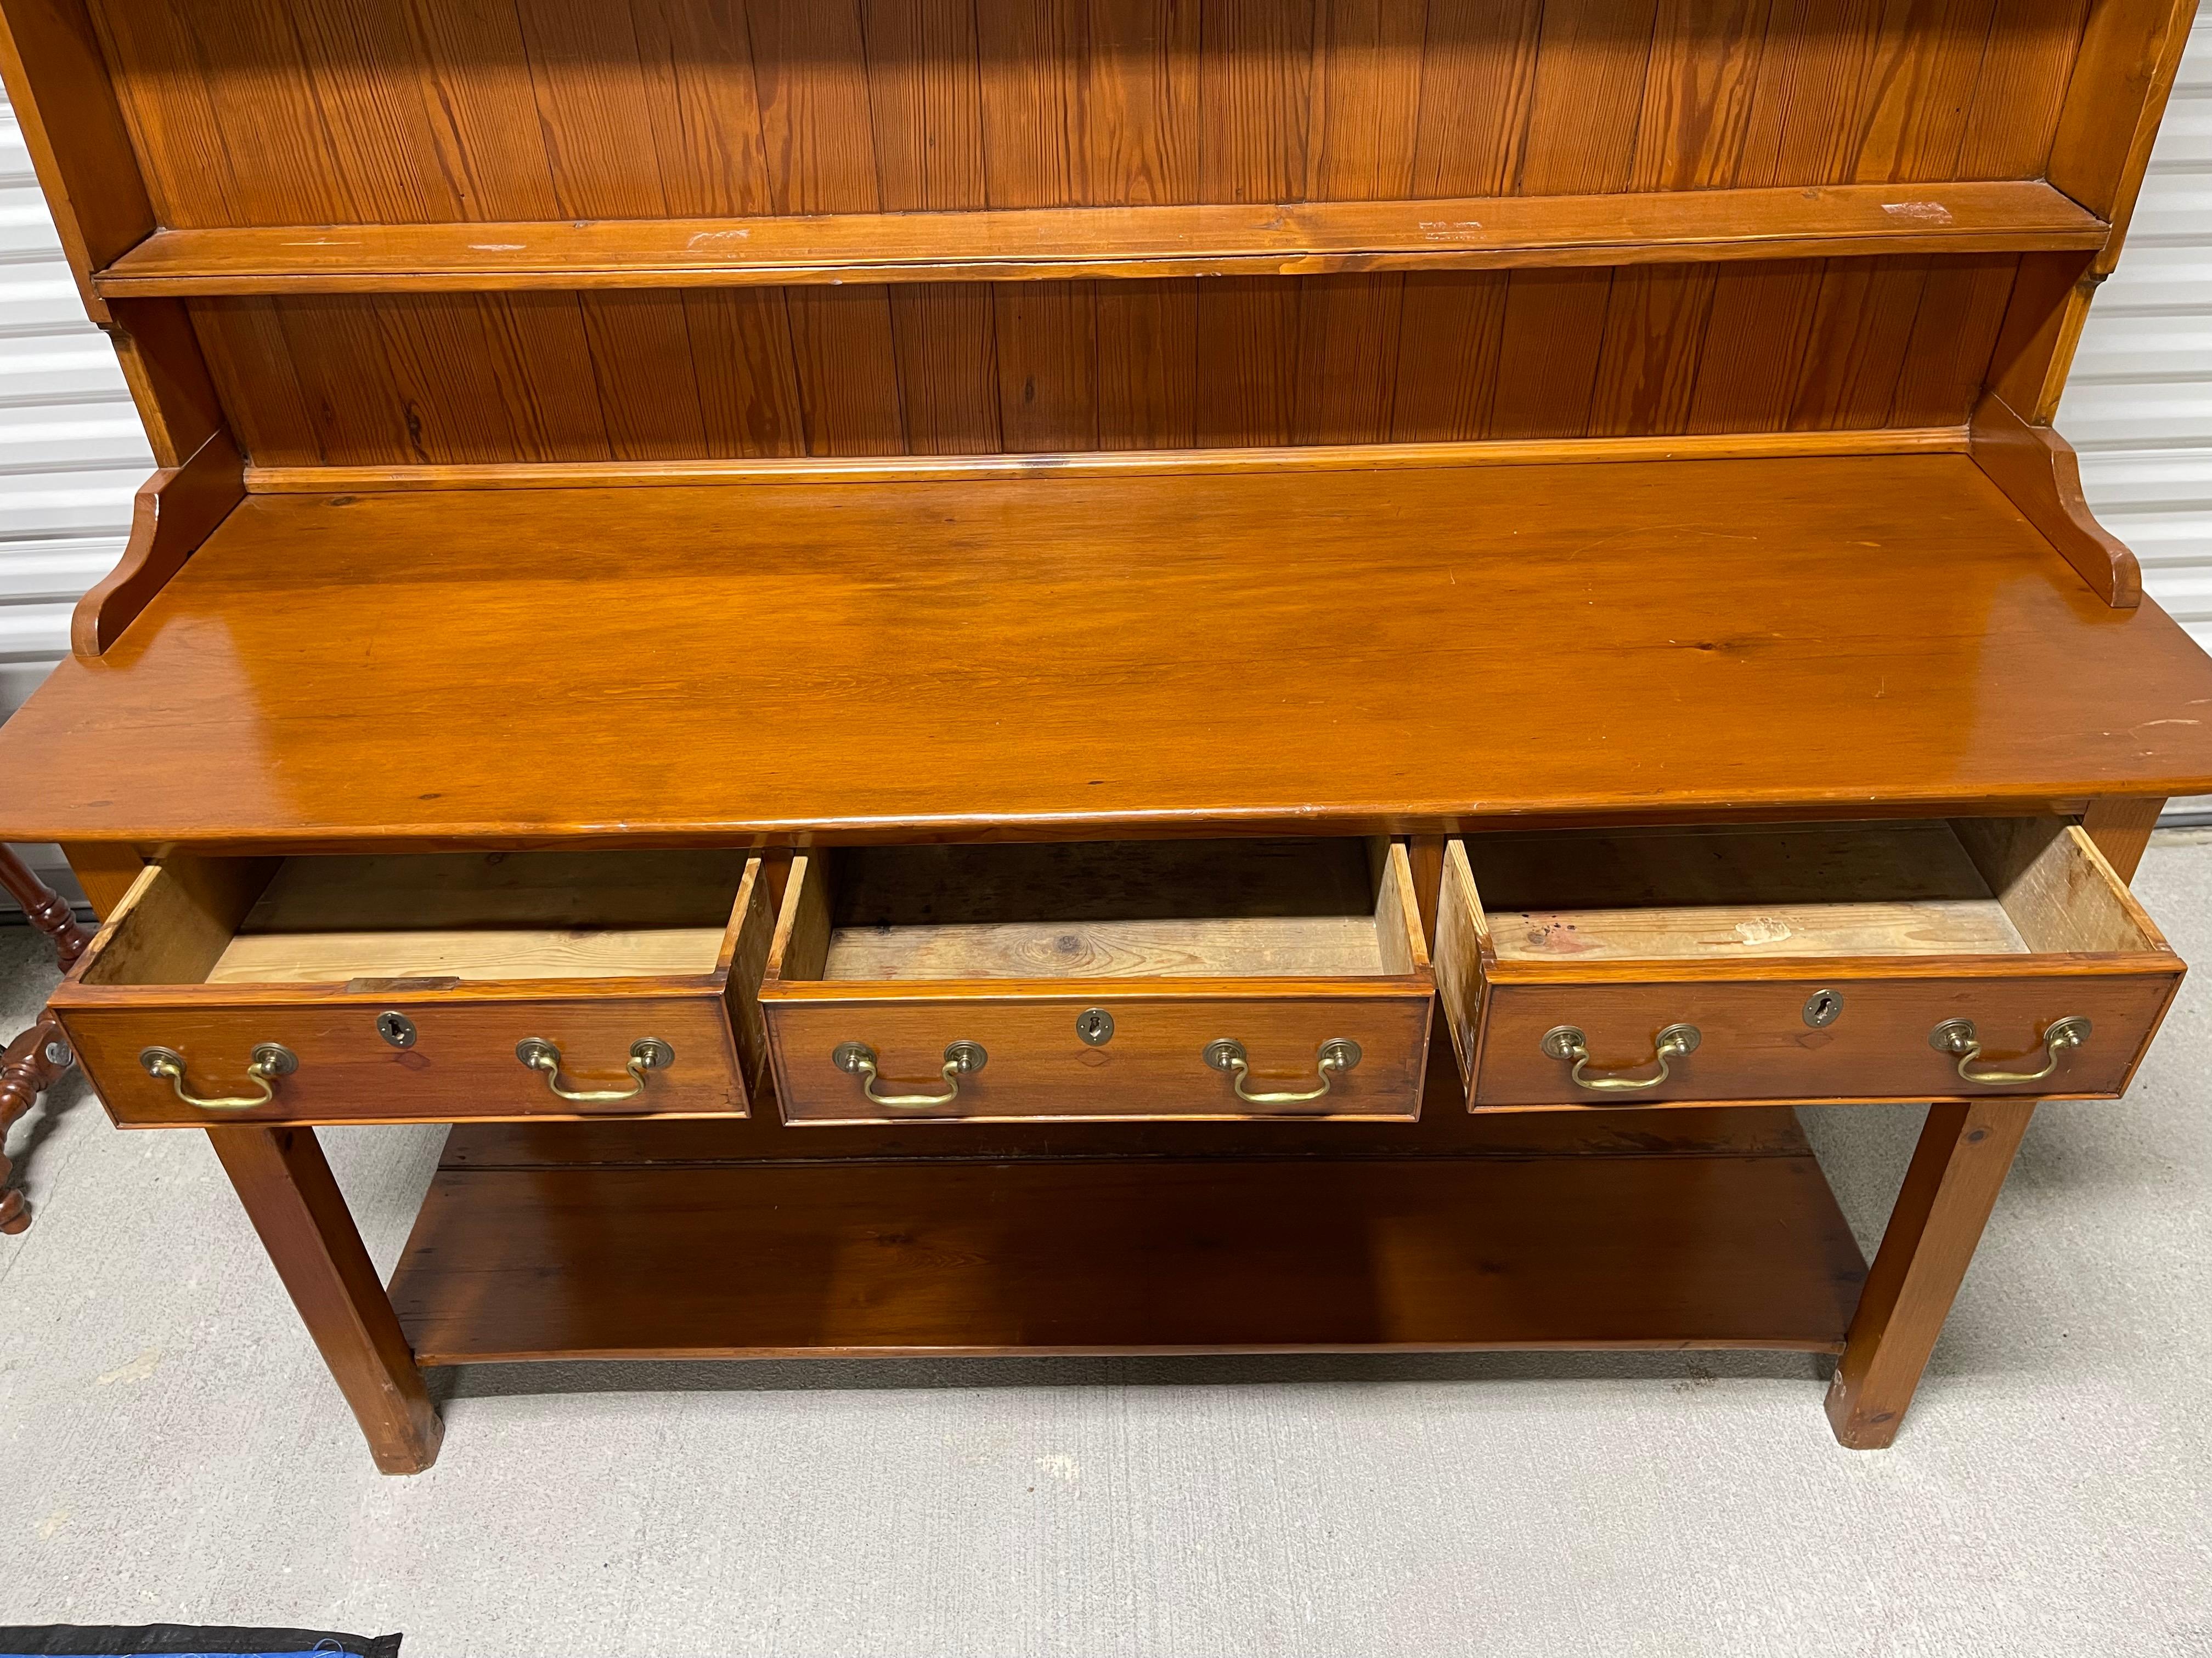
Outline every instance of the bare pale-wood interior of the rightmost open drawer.
<path fill-rule="evenodd" d="M 1469 836 L 1500 962 L 2163 951 L 2059 818 Z"/>

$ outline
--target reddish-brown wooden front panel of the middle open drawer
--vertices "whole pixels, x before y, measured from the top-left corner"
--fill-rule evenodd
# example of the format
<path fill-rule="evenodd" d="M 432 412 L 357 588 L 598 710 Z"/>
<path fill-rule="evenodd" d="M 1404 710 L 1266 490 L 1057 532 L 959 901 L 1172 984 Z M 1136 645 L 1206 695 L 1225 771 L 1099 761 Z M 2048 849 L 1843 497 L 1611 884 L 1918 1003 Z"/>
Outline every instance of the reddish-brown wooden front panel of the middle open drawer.
<path fill-rule="evenodd" d="M 900 1119 L 1254 1119 L 1420 1114 L 1429 1054 L 1427 986 L 1387 995 L 1091 995 L 1055 997 L 823 997 L 763 1001 L 776 1090 L 787 1123 L 885 1123 Z M 1113 1015 L 1113 1035 L 1091 1046 L 1077 1032 L 1088 1010 Z M 1312 1101 L 1248 1101 L 1230 1072 L 1206 1063 L 1214 1041 L 1248 1057 L 1245 1090 L 1310 1092 L 1321 1085 L 1323 1043 L 1360 1048 L 1349 1070 Z M 958 1094 L 931 1105 L 880 1105 L 860 1074 L 832 1054 L 863 1043 L 876 1054 L 876 1094 L 945 1094 L 945 1050 L 984 1050 Z"/>

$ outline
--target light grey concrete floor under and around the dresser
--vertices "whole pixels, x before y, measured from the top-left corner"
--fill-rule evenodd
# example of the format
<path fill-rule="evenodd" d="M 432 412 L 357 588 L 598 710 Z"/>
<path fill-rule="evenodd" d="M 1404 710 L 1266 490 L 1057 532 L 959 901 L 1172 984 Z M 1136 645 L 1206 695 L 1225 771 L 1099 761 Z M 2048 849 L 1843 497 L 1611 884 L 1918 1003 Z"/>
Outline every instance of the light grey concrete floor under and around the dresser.
<path fill-rule="evenodd" d="M 484 1366 L 383 1479 L 197 1134 L 80 1083 L 0 1238 L 0 1623 L 276 1623 L 409 1658 L 2212 1654 L 2203 962 L 2051 1105 L 1896 1450 L 1790 1355 Z M 51 970 L 0 931 L 0 1028 Z M 1920 1112 L 1809 1112 L 1869 1253 Z M 325 1132 L 389 1269 L 440 1130 Z M 449 1373 L 451 1375 L 451 1373 Z M 661 1391 L 670 1388 L 670 1391 Z"/>

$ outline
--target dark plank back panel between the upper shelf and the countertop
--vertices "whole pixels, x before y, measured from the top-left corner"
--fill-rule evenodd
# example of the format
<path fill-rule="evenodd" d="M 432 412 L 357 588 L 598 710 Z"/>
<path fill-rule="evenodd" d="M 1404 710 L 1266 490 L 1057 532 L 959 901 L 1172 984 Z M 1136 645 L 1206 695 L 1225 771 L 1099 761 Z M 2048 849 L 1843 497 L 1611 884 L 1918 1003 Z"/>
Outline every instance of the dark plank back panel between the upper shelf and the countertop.
<path fill-rule="evenodd" d="M 259 466 L 1964 424 L 2017 254 L 184 301 Z"/>

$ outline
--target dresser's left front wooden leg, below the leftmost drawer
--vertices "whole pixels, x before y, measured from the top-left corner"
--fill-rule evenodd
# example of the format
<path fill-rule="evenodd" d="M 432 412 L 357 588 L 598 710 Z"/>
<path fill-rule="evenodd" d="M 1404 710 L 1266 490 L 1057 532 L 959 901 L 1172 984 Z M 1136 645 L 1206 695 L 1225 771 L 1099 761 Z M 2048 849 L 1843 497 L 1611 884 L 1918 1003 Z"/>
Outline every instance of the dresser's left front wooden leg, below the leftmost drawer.
<path fill-rule="evenodd" d="M 387 1475 L 438 1461 L 445 1424 L 312 1127 L 210 1127 L 215 1154 Z"/>

